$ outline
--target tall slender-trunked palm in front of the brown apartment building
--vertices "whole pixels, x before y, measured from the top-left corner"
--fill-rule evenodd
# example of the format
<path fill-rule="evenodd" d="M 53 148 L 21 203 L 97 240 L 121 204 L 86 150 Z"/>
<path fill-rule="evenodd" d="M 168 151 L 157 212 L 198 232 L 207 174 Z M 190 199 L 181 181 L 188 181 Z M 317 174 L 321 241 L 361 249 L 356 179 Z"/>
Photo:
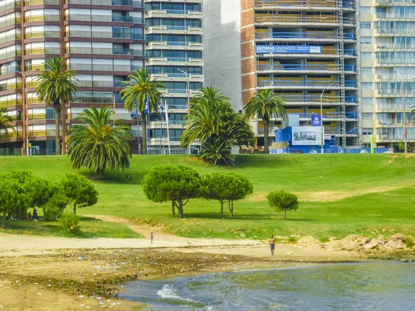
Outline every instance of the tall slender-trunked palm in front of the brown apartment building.
<path fill-rule="evenodd" d="M 45 69 L 37 78 L 36 88 L 39 100 L 44 100 L 47 106 L 53 106 L 55 111 L 55 144 L 56 154 L 60 154 L 59 118 L 62 106 L 71 102 L 77 91 L 75 72 L 66 70 L 64 58 L 46 59 Z"/>

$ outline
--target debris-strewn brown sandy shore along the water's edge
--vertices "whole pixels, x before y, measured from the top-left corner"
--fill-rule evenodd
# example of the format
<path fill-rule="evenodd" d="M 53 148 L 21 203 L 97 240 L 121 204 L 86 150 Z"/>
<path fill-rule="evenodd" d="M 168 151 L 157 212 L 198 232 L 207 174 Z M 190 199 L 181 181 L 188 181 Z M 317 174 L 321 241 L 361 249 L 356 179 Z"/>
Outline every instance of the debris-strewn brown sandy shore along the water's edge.
<path fill-rule="evenodd" d="M 32 249 L 32 254 L 0 249 L 0 294 L 6 297 L 0 308 L 146 310 L 143 303 L 116 297 L 125 283 L 396 257 L 396 252 L 387 254 L 387 258 L 385 254 L 376 257 L 359 252 L 299 249 L 293 245 L 277 245 L 275 256 L 268 252 L 266 244 Z"/>

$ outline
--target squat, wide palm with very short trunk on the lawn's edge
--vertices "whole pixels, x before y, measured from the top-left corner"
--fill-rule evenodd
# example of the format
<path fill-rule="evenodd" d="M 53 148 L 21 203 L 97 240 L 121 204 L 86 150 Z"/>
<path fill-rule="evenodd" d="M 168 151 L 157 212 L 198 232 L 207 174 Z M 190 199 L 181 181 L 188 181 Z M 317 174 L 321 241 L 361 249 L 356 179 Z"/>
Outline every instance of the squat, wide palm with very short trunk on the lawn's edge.
<path fill-rule="evenodd" d="M 131 133 L 124 120 L 111 123 L 113 112 L 109 107 L 84 109 L 75 120 L 86 126 L 75 125 L 68 131 L 68 156 L 73 169 L 95 169 L 95 178 L 102 179 L 106 167 L 128 169 L 131 158 Z"/>

